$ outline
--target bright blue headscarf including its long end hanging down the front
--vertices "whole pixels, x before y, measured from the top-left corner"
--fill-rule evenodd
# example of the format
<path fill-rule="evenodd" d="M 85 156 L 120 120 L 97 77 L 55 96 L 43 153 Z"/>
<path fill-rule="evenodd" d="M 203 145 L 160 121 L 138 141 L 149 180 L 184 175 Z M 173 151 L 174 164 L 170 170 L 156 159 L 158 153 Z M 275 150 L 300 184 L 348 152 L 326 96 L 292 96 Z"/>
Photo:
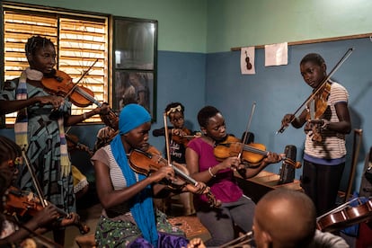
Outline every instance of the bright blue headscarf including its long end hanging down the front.
<path fill-rule="evenodd" d="M 128 133 L 130 130 L 141 126 L 151 120 L 150 114 L 144 107 L 138 104 L 128 104 L 120 112 L 119 130 L 117 135 L 111 141 L 112 155 L 119 164 L 121 172 L 127 182 L 127 187 L 137 183 L 136 175 L 128 164 L 127 152 L 121 143 L 121 135 Z M 138 181 L 146 178 L 145 175 L 138 174 Z M 131 199 L 130 211 L 136 220 L 137 226 L 143 237 L 157 247 L 158 235 L 156 230 L 155 212 L 153 207 L 152 188 L 148 185 L 144 190 L 137 193 Z"/>

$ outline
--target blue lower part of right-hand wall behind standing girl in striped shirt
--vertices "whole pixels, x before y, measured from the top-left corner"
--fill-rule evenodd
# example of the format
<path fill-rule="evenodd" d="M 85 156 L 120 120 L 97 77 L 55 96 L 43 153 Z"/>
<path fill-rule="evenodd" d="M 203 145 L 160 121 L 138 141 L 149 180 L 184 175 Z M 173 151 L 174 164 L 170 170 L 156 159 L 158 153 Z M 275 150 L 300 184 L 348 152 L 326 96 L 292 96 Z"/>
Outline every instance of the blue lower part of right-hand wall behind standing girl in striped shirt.
<path fill-rule="evenodd" d="M 252 110 L 250 131 L 255 142 L 267 146 L 267 150 L 283 152 L 287 145 L 297 146 L 297 160 L 301 160 L 305 134 L 302 128 L 287 128 L 276 135 L 280 120 L 285 113 L 294 112 L 311 94 L 311 88 L 299 73 L 299 61 L 307 53 L 323 55 L 332 70 L 349 48 L 355 48 L 332 78 L 343 84 L 350 93 L 350 114 L 352 128 L 363 129 L 363 143 L 359 154 L 358 171 L 354 185 L 359 190 L 364 157 L 372 144 L 372 43 L 369 39 L 324 42 L 288 47 L 287 66 L 264 66 L 264 49 L 256 49 L 256 75 L 241 75 L 240 52 L 208 54 L 206 103 L 216 106 L 226 118 L 228 131 L 241 137 Z M 345 190 L 350 172 L 353 131 L 347 137 L 348 160 L 344 172 L 342 189 Z M 280 164 L 267 167 L 268 171 L 279 173 Z M 297 170 L 297 178 L 302 170 Z"/>

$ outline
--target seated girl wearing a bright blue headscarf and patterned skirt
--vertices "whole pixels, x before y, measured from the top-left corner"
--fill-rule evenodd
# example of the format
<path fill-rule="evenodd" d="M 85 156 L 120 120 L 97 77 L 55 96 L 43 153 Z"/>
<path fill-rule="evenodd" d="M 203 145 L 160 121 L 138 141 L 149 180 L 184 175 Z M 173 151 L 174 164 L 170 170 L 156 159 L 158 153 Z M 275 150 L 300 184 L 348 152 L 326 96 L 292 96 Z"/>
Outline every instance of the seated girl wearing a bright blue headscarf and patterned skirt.
<path fill-rule="evenodd" d="M 102 216 L 95 239 L 98 247 L 182 247 L 188 244 L 181 230 L 173 227 L 164 213 L 156 210 L 152 197 L 171 190 L 157 182 L 173 180 L 172 166 L 164 166 L 148 176 L 134 172 L 128 164 L 133 149 L 149 148 L 151 116 L 144 107 L 128 104 L 120 112 L 119 134 L 111 144 L 93 155 L 97 193 Z M 202 182 L 179 189 L 206 192 Z"/>

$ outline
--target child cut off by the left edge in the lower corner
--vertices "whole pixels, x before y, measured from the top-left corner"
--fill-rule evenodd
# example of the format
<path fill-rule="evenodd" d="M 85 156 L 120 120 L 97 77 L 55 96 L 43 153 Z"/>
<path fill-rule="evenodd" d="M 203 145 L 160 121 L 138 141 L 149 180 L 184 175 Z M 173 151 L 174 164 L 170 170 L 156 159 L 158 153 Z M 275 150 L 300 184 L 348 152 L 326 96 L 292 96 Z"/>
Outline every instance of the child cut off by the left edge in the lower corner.
<path fill-rule="evenodd" d="M 18 168 L 22 165 L 22 154 L 21 148 L 17 146 L 13 140 L 0 136 L 0 196 L 6 199 L 5 191 L 10 188 L 12 183 L 17 179 Z M 0 246 L 8 244 L 9 247 L 13 247 L 10 244 L 21 244 L 22 241 L 30 236 L 28 230 L 18 226 L 8 220 L 4 215 L 4 207 L 9 202 L 2 202 L 0 205 Z M 68 226 L 75 222 L 76 215 L 72 215 L 69 219 L 64 219 L 60 223 L 62 226 Z M 34 217 L 32 217 L 27 223 L 22 224 L 32 232 L 38 234 L 48 230 L 49 225 L 56 222 L 58 218 L 58 209 L 49 205 L 46 208 L 42 208 Z M 17 246 L 18 247 L 18 246 Z"/>

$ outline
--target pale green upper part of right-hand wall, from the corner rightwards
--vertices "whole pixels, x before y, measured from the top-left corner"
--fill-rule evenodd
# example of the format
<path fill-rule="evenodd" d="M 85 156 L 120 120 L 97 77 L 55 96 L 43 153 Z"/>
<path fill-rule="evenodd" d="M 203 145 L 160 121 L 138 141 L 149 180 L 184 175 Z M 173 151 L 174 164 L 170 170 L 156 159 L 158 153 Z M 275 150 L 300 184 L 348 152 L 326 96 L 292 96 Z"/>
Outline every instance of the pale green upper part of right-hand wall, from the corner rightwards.
<path fill-rule="evenodd" d="M 372 31 L 370 0 L 208 0 L 207 52 Z"/>

